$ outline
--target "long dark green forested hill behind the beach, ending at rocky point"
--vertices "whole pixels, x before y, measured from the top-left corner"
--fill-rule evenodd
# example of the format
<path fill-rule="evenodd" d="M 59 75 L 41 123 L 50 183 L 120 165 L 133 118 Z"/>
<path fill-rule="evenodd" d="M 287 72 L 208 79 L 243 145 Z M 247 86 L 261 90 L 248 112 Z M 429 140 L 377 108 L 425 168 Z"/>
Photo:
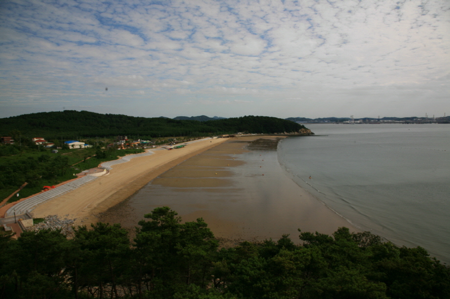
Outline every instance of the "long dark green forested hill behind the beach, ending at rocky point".
<path fill-rule="evenodd" d="M 155 138 L 236 132 L 270 134 L 297 132 L 301 128 L 305 127 L 291 121 L 267 116 L 244 116 L 200 122 L 75 110 L 31 113 L 0 119 L 1 136 L 22 134 L 47 139 L 116 135 Z"/>

